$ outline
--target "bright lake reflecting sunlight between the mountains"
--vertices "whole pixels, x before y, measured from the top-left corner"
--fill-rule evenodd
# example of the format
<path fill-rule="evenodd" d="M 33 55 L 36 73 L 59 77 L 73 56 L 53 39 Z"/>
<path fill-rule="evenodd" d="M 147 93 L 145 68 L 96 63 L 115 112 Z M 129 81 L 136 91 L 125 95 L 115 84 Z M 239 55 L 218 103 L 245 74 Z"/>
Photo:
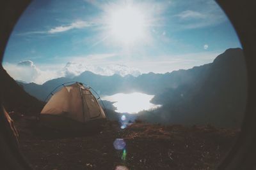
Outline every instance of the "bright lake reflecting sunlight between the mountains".
<path fill-rule="evenodd" d="M 119 113 L 138 113 L 143 110 L 153 110 L 161 105 L 150 103 L 154 95 L 133 92 L 130 94 L 118 93 L 112 96 L 102 97 L 102 100 L 115 102 L 116 112 Z"/>

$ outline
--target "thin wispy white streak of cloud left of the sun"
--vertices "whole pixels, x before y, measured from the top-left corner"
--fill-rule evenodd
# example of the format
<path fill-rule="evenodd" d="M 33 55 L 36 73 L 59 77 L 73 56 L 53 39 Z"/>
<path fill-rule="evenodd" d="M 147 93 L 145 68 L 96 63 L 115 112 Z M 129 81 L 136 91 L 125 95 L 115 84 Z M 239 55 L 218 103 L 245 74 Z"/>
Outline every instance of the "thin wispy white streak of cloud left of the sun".
<path fill-rule="evenodd" d="M 73 22 L 72 24 L 69 25 L 61 25 L 58 27 L 54 27 L 52 29 L 50 29 L 48 32 L 50 34 L 55 34 L 58 32 L 65 32 L 68 31 L 70 29 L 82 29 L 84 27 L 90 27 L 92 24 L 89 22 L 85 22 L 85 21 L 77 21 L 77 22 Z"/>

